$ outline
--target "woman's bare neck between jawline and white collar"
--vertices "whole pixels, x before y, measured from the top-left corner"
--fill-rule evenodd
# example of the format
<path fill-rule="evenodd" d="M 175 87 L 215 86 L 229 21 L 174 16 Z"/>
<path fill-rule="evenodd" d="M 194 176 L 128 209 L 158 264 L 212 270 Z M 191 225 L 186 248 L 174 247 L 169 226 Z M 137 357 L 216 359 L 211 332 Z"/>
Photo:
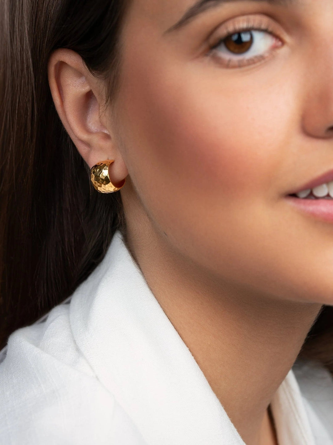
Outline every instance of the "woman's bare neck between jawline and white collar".
<path fill-rule="evenodd" d="M 137 226 L 136 226 L 137 227 Z M 267 409 L 321 304 L 277 300 L 212 277 L 150 231 L 128 247 L 155 298 L 247 445 L 271 431 Z M 271 442 L 275 443 L 272 439 Z"/>

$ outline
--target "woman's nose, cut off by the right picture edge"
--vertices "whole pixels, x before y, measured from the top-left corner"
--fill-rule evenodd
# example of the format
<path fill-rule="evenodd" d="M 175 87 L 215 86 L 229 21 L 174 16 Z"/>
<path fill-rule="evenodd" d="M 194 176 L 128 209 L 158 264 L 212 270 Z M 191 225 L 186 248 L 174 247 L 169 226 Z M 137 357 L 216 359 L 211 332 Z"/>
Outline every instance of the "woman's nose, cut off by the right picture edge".
<path fill-rule="evenodd" d="M 333 137 L 333 14 L 321 25 L 305 45 L 303 126 L 312 136 L 328 138 Z"/>

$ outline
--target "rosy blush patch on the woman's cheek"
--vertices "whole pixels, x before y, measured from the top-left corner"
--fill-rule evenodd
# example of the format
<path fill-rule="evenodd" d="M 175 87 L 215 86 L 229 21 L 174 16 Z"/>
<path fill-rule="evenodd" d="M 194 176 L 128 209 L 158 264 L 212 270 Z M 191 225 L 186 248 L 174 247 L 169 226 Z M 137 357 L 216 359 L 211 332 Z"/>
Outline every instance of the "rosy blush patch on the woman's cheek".
<path fill-rule="evenodd" d="M 249 132 L 239 131 L 238 119 L 220 105 L 214 112 L 200 107 L 192 97 L 168 97 L 150 104 L 150 147 L 156 168 L 175 184 L 237 197 L 260 185 L 258 149 L 251 150 Z M 157 103 L 156 103 L 157 102 Z M 177 106 L 174 106 L 174 104 Z M 158 147 L 158 148 L 157 148 Z M 264 165 L 262 165 L 263 168 Z"/>

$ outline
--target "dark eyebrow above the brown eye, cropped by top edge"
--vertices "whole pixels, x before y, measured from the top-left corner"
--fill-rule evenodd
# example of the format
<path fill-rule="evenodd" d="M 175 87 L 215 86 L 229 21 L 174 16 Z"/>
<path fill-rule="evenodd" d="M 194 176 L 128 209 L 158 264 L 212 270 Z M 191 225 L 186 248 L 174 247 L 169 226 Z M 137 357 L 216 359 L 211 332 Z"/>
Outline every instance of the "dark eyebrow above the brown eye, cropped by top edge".
<path fill-rule="evenodd" d="M 177 23 L 168 28 L 163 34 L 182 28 L 191 20 L 193 20 L 194 17 L 197 17 L 202 12 L 206 12 L 207 10 L 210 10 L 212 8 L 216 8 L 221 4 L 235 3 L 237 1 L 241 0 L 199 0 L 185 12 L 185 14 L 181 17 L 180 20 L 178 20 Z M 279 6 L 289 6 L 291 4 L 296 3 L 296 0 L 249 0 L 249 1 L 265 2 Z"/>

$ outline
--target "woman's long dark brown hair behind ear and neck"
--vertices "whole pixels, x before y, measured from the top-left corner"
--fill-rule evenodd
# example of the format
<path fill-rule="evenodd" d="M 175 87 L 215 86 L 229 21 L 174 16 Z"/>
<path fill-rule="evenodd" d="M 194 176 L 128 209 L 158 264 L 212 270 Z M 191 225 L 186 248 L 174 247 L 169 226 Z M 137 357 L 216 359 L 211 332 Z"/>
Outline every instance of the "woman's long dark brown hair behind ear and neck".
<path fill-rule="evenodd" d="M 69 48 L 119 80 L 128 0 L 0 0 L 0 346 L 63 301 L 126 233 L 120 193 L 99 194 L 48 86 L 52 51 Z M 333 372 L 333 307 L 323 306 L 299 356 Z"/>

